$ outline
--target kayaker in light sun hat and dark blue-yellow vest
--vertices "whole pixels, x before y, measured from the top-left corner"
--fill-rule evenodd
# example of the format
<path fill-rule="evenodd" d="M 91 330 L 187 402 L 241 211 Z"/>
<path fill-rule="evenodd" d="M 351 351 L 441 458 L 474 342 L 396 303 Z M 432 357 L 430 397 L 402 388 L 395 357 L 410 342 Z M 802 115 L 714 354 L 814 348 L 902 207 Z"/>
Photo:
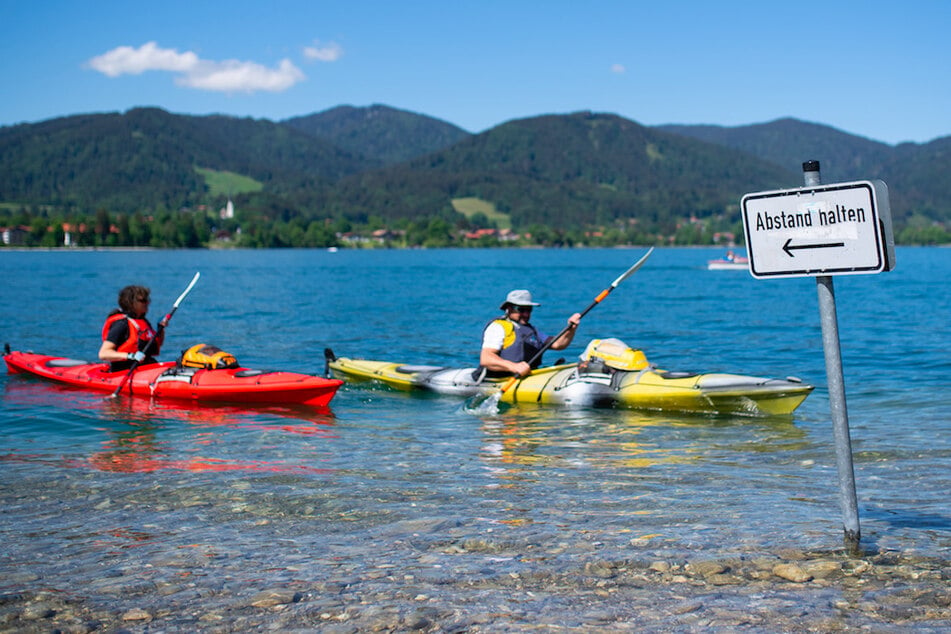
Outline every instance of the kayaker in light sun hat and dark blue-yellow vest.
<path fill-rule="evenodd" d="M 479 364 L 487 370 L 486 376 L 526 376 L 541 365 L 540 357 L 534 365 L 528 364 L 550 338 L 529 323 L 532 309 L 539 305 L 526 290 L 511 291 L 502 302 L 499 308 L 505 314 L 490 321 L 482 332 Z M 580 321 L 580 313 L 568 318 L 570 328 L 552 342 L 552 350 L 562 350 L 571 344 Z"/>

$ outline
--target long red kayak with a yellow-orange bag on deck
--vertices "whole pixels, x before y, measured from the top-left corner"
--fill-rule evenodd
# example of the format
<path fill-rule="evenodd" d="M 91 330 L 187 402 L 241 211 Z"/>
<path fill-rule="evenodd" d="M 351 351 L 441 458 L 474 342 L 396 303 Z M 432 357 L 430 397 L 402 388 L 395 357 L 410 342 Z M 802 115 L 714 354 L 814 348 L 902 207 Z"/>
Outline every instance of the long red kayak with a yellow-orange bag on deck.
<path fill-rule="evenodd" d="M 3 356 L 10 374 L 30 374 L 74 387 L 115 392 L 128 370 L 110 372 L 108 363 L 90 363 L 32 352 Z M 339 379 L 248 368 L 188 368 L 174 361 L 143 365 L 121 394 L 179 401 L 326 406 L 343 385 Z"/>

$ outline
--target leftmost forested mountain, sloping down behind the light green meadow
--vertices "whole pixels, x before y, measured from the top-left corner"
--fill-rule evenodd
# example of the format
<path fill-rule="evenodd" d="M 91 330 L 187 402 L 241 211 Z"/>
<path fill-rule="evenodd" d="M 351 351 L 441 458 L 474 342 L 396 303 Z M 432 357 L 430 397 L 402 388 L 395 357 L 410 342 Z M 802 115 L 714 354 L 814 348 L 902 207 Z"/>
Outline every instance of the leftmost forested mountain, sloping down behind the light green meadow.
<path fill-rule="evenodd" d="M 9 203 L 178 209 L 207 201 L 196 168 L 288 195 L 377 165 L 271 121 L 157 108 L 0 128 L 0 202 Z"/>

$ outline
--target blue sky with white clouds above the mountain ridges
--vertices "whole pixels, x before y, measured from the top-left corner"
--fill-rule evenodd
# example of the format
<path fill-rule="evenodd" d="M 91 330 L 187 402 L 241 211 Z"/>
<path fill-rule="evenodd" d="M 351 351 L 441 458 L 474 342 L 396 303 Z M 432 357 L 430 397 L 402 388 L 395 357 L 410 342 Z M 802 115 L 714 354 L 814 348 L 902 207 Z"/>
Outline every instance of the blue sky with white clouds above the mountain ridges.
<path fill-rule="evenodd" d="M 0 0 L 0 125 L 386 104 L 469 132 L 578 110 L 951 135 L 951 1 Z"/>

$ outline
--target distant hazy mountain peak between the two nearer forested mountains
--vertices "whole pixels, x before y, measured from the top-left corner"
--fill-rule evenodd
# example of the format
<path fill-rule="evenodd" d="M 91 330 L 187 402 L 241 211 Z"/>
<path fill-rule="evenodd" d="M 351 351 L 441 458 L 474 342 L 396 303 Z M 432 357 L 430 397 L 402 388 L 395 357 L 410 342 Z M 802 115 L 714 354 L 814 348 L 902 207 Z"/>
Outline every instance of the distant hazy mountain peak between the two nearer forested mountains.
<path fill-rule="evenodd" d="M 387 164 L 442 150 L 469 136 L 445 121 L 379 104 L 337 106 L 281 123 Z"/>

